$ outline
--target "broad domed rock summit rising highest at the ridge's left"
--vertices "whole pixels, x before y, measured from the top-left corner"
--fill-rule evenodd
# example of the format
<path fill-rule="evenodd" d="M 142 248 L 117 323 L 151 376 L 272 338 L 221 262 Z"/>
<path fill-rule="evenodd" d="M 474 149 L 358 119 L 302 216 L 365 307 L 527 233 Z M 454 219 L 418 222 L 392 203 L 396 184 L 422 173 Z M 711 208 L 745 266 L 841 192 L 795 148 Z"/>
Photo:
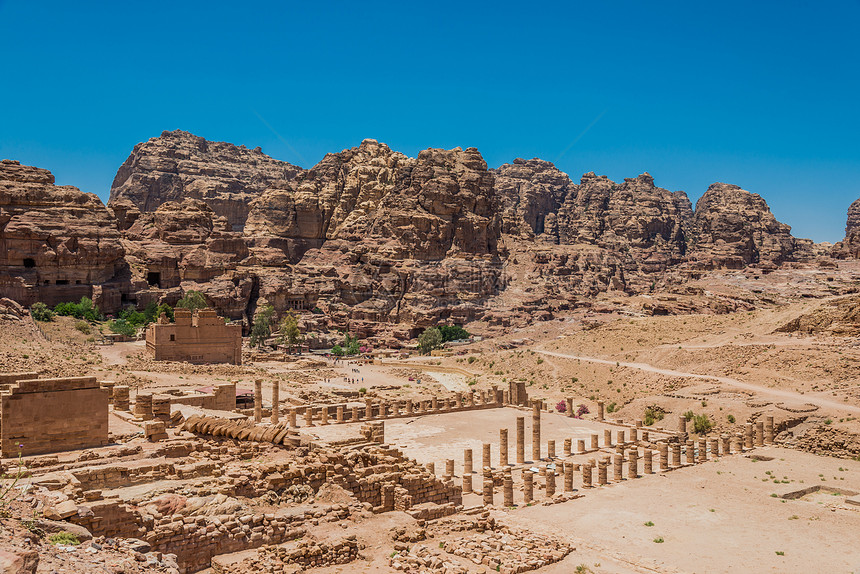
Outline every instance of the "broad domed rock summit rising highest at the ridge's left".
<path fill-rule="evenodd" d="M 134 146 L 117 171 L 109 204 L 128 200 L 140 211 L 167 201 L 206 202 L 216 215 L 241 230 L 251 202 L 264 190 L 280 187 L 302 169 L 253 150 L 212 142 L 188 132 L 162 132 Z"/>

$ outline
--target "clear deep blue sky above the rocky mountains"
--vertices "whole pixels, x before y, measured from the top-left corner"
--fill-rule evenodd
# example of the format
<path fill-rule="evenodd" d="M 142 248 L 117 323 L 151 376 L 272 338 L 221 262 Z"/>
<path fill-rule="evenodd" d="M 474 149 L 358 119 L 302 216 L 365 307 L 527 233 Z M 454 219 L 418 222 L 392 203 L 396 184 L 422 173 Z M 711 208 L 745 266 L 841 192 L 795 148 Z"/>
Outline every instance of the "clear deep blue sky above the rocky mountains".
<path fill-rule="evenodd" d="M 857 0 L 0 0 L 0 158 L 106 199 L 163 130 L 303 167 L 368 137 L 476 146 L 694 202 L 735 183 L 837 241 L 860 197 L 858 22 Z"/>

